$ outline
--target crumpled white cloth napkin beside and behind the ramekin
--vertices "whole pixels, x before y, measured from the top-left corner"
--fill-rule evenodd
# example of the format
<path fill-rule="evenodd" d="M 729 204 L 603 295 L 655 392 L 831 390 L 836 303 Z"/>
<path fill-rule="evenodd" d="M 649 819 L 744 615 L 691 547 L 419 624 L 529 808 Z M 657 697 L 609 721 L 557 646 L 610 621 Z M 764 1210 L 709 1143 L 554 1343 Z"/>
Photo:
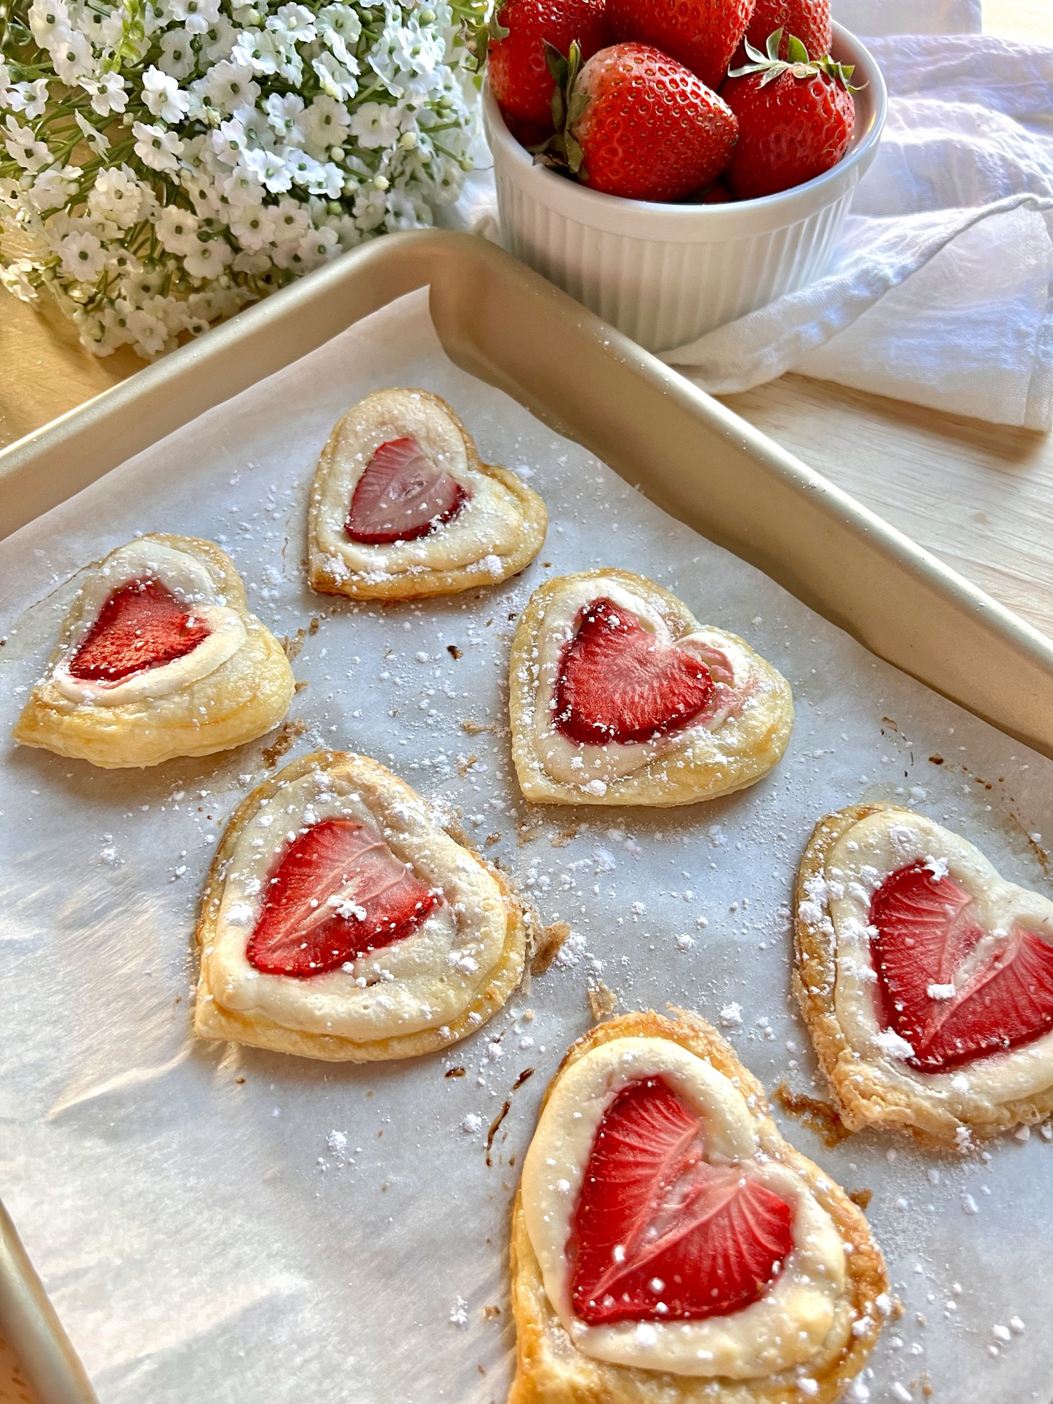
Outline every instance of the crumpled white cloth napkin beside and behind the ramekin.
<path fill-rule="evenodd" d="M 1053 428 L 1053 49 L 980 35 L 980 0 L 834 14 L 885 35 L 890 101 L 830 271 L 663 359 L 713 393 L 799 371 Z M 444 222 L 497 237 L 490 171 Z"/>

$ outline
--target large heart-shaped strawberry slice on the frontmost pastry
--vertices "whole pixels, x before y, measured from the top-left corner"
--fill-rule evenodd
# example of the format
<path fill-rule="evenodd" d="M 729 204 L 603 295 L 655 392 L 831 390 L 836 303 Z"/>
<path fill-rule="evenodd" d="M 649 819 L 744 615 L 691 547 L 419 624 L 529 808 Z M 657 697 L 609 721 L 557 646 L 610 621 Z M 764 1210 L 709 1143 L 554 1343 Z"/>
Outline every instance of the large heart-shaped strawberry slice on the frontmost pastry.
<path fill-rule="evenodd" d="M 764 1296 L 793 1247 L 789 1205 L 702 1150 L 699 1119 L 660 1077 L 611 1102 L 567 1244 L 584 1321 L 696 1321 Z"/>

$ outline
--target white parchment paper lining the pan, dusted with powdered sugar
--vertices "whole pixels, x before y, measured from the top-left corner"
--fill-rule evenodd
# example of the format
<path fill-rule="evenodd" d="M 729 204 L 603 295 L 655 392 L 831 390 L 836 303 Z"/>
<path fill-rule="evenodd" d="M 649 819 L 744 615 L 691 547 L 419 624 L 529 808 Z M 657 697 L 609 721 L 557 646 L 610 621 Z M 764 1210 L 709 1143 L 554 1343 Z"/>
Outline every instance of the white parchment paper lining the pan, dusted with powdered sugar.
<path fill-rule="evenodd" d="M 444 395 L 484 459 L 531 475 L 552 525 L 518 580 L 393 607 L 305 588 L 317 452 L 385 385 Z M 590 984 L 622 1008 L 694 1007 L 769 1090 L 786 1075 L 821 1095 L 788 998 L 790 883 L 821 813 L 899 799 L 1049 890 L 1049 761 L 875 660 L 456 369 L 423 292 L 0 543 L 4 736 L 73 574 L 136 531 L 218 541 L 279 635 L 319 619 L 295 660 L 307 687 L 291 757 L 340 746 L 386 761 L 480 844 L 496 835 L 487 852 L 573 935 L 529 993 L 444 1056 L 355 1068 L 197 1045 L 197 897 L 223 821 L 270 774 L 272 737 L 142 774 L 6 743 L 3 1193 L 102 1404 L 500 1404 L 508 1203 L 543 1087 L 591 1022 Z M 664 813 L 522 803 L 504 722 L 512 615 L 543 578 L 598 564 L 650 574 L 786 674 L 797 723 L 771 776 Z M 865 1376 L 872 1397 L 929 1387 L 946 1404 L 1047 1404 L 1046 1140 L 960 1160 L 870 1134 L 828 1150 L 799 1120 L 783 1126 L 847 1188 L 873 1191 L 904 1314 Z"/>

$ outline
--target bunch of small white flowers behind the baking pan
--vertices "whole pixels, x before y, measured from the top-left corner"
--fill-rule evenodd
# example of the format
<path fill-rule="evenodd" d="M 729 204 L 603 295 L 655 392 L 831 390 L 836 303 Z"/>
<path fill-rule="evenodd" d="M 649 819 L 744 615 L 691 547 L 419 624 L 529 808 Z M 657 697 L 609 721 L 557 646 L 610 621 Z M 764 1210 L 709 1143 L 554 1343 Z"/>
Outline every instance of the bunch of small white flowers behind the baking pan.
<path fill-rule="evenodd" d="M 0 279 L 152 358 L 472 167 L 484 0 L 0 0 Z"/>

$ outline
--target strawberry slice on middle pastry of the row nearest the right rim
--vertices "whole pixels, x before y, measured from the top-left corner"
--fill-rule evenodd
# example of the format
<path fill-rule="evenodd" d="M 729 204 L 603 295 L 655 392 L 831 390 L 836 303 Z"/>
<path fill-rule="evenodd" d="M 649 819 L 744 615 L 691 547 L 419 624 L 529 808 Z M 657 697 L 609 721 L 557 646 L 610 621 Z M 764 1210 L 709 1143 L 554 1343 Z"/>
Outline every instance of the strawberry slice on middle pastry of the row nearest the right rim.
<path fill-rule="evenodd" d="M 701 658 L 660 643 L 614 601 L 595 600 L 563 656 L 555 722 L 571 741 L 625 746 L 687 726 L 712 696 Z"/>

